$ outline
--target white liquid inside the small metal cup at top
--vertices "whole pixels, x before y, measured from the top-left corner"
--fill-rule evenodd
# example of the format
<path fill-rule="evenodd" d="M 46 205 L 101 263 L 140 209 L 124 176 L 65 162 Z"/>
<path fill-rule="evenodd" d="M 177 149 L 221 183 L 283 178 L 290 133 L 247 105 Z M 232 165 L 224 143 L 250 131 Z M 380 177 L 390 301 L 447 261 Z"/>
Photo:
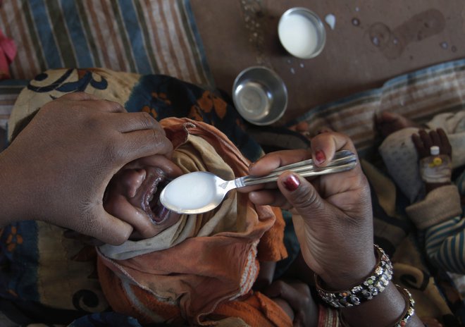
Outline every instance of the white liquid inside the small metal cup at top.
<path fill-rule="evenodd" d="M 278 27 L 278 35 L 283 47 L 300 58 L 310 56 L 318 46 L 316 26 L 303 15 L 286 17 Z"/>

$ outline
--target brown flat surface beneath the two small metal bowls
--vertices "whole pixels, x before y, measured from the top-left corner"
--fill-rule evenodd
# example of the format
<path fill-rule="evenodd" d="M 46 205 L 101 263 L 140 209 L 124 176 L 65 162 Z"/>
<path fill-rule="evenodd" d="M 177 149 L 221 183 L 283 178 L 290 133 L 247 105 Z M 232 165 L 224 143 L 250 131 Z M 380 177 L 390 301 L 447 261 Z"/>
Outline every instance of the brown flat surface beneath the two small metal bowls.
<path fill-rule="evenodd" d="M 426 66 L 465 57 L 465 2 L 343 0 L 191 0 L 216 87 L 230 94 L 249 66 L 275 70 L 290 95 L 284 123 L 324 104 L 383 85 Z M 278 20 L 303 6 L 327 23 L 326 44 L 316 58 L 287 54 L 278 40 Z"/>

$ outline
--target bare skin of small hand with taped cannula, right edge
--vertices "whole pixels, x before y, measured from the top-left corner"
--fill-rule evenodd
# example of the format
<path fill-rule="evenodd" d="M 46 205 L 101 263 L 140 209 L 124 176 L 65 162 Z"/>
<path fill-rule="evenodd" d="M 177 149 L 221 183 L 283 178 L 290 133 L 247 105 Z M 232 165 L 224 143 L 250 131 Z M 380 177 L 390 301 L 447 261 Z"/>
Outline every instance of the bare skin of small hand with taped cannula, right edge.
<path fill-rule="evenodd" d="M 430 147 L 437 145 L 439 153 L 452 158 L 452 147 L 449 138 L 442 128 L 437 130 L 419 130 L 418 134 L 411 135 L 411 140 L 415 144 L 416 152 L 419 155 L 419 160 L 430 156 Z M 426 192 L 435 190 L 438 187 L 450 185 L 450 183 L 425 183 Z"/>

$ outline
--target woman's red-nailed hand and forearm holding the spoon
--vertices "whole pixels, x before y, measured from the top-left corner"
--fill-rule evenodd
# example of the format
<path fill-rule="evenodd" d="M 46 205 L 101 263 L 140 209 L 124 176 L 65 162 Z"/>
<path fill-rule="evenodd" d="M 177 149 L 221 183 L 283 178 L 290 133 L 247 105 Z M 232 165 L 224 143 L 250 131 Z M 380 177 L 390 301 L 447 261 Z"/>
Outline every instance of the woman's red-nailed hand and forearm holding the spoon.
<path fill-rule="evenodd" d="M 340 149 L 355 152 L 348 137 L 323 133 L 311 141 L 311 151 L 268 154 L 252 165 L 250 173 L 263 175 L 278 166 L 310 157 L 318 166 L 324 166 Z M 370 190 L 360 166 L 323 175 L 311 183 L 285 172 L 280 175 L 277 186 L 277 189 L 271 186 L 271 189 L 255 190 L 249 197 L 256 204 L 293 207 L 294 228 L 304 260 L 326 287 L 345 290 L 365 280 L 376 264 L 376 257 Z M 389 283 L 373 300 L 342 309 L 342 314 L 350 326 L 394 326 L 406 307 L 404 297 Z M 414 315 L 407 326 L 422 325 Z"/>

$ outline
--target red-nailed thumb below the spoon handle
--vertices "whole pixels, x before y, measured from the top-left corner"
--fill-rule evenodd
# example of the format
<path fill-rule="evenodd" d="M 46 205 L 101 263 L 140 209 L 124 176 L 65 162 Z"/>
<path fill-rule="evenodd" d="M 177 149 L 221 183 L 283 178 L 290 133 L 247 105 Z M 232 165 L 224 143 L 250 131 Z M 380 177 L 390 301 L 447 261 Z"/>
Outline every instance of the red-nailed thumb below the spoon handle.
<path fill-rule="evenodd" d="M 315 187 L 301 176 L 285 172 L 278 178 L 278 187 L 287 201 L 304 218 L 325 212 L 325 204 Z M 311 215 L 309 215 L 311 213 Z"/>

